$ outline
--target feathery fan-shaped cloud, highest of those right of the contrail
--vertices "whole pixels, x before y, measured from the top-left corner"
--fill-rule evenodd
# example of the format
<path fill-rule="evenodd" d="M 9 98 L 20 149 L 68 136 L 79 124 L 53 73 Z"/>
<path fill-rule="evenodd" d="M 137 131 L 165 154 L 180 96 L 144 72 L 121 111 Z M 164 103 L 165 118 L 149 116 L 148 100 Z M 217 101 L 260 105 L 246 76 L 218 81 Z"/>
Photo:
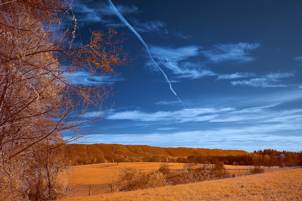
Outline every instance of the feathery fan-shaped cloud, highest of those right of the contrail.
<path fill-rule="evenodd" d="M 259 48 L 259 43 L 239 42 L 237 44 L 219 44 L 214 48 L 202 50 L 201 53 L 214 63 L 223 61 L 249 62 L 254 61 L 249 51 Z"/>

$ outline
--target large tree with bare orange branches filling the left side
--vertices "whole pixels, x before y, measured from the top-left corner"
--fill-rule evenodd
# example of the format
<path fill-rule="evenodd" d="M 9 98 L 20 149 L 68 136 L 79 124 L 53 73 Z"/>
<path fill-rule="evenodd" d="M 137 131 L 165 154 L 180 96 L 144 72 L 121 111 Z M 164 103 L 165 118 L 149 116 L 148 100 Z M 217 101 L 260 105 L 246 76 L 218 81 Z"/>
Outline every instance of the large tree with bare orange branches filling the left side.
<path fill-rule="evenodd" d="M 50 164 L 63 158 L 54 150 L 82 137 L 79 125 L 102 118 L 108 111 L 101 109 L 102 103 L 113 92 L 112 83 L 103 78 L 117 75 L 114 65 L 132 61 L 112 28 L 108 33 L 92 31 L 87 44 L 75 43 L 77 24 L 70 8 L 67 0 L 0 0 L 0 197 L 4 200 L 38 200 L 42 196 L 38 192 L 44 190 L 37 188 L 48 192 L 43 199 L 55 197 L 55 177 L 63 168 Z M 65 30 L 60 23 L 63 16 L 73 21 Z M 77 78 L 80 72 L 89 74 L 88 82 Z M 74 135 L 63 140 L 68 132 Z"/>

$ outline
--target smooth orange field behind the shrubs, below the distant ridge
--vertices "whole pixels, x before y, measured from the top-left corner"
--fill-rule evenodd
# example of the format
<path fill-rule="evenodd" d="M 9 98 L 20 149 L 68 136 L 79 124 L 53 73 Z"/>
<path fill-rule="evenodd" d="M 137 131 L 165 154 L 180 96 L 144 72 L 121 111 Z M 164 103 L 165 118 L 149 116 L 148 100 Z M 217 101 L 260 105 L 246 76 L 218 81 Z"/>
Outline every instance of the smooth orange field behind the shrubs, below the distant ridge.
<path fill-rule="evenodd" d="M 156 163 L 156 162 L 133 162 L 133 163 L 99 163 L 92 165 L 79 165 L 72 168 L 69 171 L 69 179 L 74 187 L 72 191 L 67 194 L 69 198 L 88 196 L 90 195 L 101 195 L 106 193 L 104 190 L 106 182 L 113 176 L 114 173 L 118 173 L 120 170 L 125 168 L 133 168 L 143 170 L 145 173 L 150 173 L 160 168 L 161 164 L 169 166 L 172 172 L 177 173 L 177 171 L 184 168 L 183 163 Z M 196 164 L 195 168 L 202 166 L 201 164 Z M 234 166 L 225 165 L 225 168 L 230 174 L 236 174 L 237 176 L 244 176 L 248 174 L 248 171 L 253 168 L 253 166 Z M 278 171 L 277 167 L 266 169 L 266 172 Z M 90 190 L 89 190 L 90 189 Z"/>

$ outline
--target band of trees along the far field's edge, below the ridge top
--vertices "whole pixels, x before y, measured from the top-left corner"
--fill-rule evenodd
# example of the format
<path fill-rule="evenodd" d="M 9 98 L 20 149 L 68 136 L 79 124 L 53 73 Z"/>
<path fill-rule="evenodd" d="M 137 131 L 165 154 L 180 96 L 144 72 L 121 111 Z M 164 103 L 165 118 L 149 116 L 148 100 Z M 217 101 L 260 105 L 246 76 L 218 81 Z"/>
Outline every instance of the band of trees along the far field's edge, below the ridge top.
<path fill-rule="evenodd" d="M 205 164 L 210 162 L 223 162 L 224 165 L 257 165 L 257 166 L 302 166 L 302 152 L 277 151 L 264 149 L 245 154 L 224 154 L 224 155 L 189 155 L 179 156 L 144 156 L 134 157 L 121 154 L 102 154 L 102 153 L 76 153 L 72 151 L 69 155 L 72 165 L 88 165 L 94 163 L 110 162 L 178 162 Z"/>

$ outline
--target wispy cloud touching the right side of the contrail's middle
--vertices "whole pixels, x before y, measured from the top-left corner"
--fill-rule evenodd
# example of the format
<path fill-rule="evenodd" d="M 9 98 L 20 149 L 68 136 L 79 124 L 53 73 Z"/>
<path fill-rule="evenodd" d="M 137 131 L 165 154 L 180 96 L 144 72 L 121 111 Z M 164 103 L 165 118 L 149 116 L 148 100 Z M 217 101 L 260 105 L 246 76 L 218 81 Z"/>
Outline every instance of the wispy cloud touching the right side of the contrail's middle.
<path fill-rule="evenodd" d="M 157 64 L 171 70 L 178 78 L 197 79 L 203 76 L 215 75 L 214 72 L 205 68 L 201 62 L 192 62 L 190 58 L 198 56 L 200 47 L 186 46 L 170 48 L 163 46 L 151 46 L 150 52 Z M 146 62 L 151 70 L 156 70 L 151 61 Z"/>

